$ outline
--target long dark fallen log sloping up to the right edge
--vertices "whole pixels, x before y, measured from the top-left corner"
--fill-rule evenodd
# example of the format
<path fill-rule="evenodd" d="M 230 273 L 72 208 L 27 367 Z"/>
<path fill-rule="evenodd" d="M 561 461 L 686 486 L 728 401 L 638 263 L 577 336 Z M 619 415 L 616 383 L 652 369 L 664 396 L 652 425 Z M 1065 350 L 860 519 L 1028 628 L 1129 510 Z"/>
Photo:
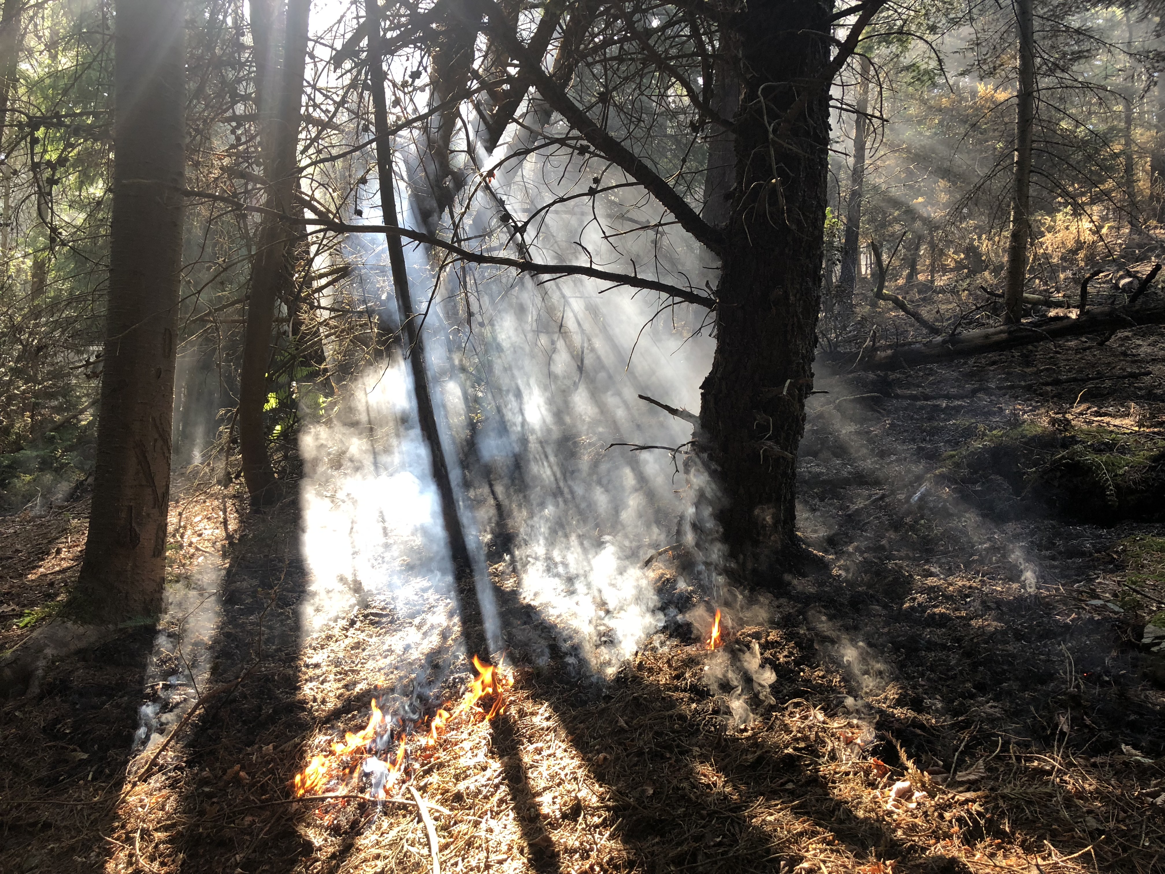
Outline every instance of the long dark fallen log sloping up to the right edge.
<path fill-rule="evenodd" d="M 1051 316 L 1032 319 L 1018 325 L 984 327 L 954 337 L 935 337 L 933 340 L 910 346 L 884 350 L 862 357 L 856 352 L 819 355 L 818 359 L 852 371 L 897 371 L 904 367 L 920 367 L 952 358 L 982 355 L 1003 352 L 1019 346 L 1055 340 L 1061 337 L 1080 337 L 1089 333 L 1109 333 L 1142 325 L 1165 324 L 1165 306 L 1097 306 L 1085 315 Z"/>

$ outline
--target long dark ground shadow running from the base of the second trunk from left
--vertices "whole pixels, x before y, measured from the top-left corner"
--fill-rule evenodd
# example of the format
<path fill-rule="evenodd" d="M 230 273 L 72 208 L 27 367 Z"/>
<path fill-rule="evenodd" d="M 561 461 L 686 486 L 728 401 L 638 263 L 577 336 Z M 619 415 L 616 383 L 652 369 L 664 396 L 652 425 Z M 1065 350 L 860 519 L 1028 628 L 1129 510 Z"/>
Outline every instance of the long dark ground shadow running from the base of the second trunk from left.
<path fill-rule="evenodd" d="M 285 503 L 243 520 L 220 585 L 207 689 L 218 695 L 179 739 L 174 789 L 183 874 L 285 872 L 311 857 L 295 827 L 287 762 L 311 728 L 299 700 L 299 604 L 308 575 L 298 515 Z M 241 679 L 240 679 L 241 678 Z M 204 692 L 205 695 L 205 692 Z"/>

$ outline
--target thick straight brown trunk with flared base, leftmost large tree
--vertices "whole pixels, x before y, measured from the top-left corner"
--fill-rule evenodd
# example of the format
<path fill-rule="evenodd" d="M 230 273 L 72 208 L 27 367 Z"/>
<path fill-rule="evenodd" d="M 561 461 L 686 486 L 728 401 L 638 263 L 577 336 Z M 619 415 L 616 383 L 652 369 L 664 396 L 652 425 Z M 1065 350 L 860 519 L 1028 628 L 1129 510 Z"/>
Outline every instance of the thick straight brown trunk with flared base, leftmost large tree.
<path fill-rule="evenodd" d="M 185 172 L 181 0 L 116 0 L 110 290 L 80 578 L 65 614 L 90 622 L 162 606 Z"/>

